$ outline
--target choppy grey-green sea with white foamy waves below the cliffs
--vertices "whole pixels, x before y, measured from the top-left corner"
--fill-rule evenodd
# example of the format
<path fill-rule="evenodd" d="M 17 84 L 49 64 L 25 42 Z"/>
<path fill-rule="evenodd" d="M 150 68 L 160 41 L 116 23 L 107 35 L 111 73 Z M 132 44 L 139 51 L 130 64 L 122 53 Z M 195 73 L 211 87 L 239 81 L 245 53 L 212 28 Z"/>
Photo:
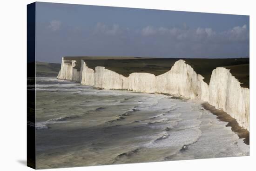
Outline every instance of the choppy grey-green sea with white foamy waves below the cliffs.
<path fill-rule="evenodd" d="M 36 168 L 248 156 L 202 102 L 36 78 Z"/>

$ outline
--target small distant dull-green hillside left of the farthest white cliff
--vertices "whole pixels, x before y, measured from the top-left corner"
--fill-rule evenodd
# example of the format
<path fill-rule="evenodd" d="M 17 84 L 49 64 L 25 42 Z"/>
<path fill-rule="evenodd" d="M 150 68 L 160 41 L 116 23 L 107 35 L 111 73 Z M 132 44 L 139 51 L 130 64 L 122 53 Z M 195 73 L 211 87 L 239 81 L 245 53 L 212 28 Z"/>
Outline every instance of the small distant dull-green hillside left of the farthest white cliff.
<path fill-rule="evenodd" d="M 36 62 L 36 76 L 57 77 L 61 70 L 61 64 Z"/>

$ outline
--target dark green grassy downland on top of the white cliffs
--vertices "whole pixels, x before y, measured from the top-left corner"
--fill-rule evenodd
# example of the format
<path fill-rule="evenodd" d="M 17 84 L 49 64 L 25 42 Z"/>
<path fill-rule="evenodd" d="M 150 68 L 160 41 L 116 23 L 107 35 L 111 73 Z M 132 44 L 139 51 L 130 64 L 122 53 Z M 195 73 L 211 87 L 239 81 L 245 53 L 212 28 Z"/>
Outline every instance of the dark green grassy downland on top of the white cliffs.
<path fill-rule="evenodd" d="M 132 72 L 148 72 L 160 75 L 168 72 L 174 63 L 180 58 L 132 58 L 132 59 L 87 59 L 81 57 L 87 63 L 89 68 L 96 66 L 105 66 L 106 69 L 115 71 L 128 77 Z M 192 66 L 196 73 L 204 77 L 204 81 L 209 84 L 212 71 L 216 67 L 225 67 L 230 69 L 242 84 L 249 88 L 249 58 L 238 59 L 183 59 Z"/>

